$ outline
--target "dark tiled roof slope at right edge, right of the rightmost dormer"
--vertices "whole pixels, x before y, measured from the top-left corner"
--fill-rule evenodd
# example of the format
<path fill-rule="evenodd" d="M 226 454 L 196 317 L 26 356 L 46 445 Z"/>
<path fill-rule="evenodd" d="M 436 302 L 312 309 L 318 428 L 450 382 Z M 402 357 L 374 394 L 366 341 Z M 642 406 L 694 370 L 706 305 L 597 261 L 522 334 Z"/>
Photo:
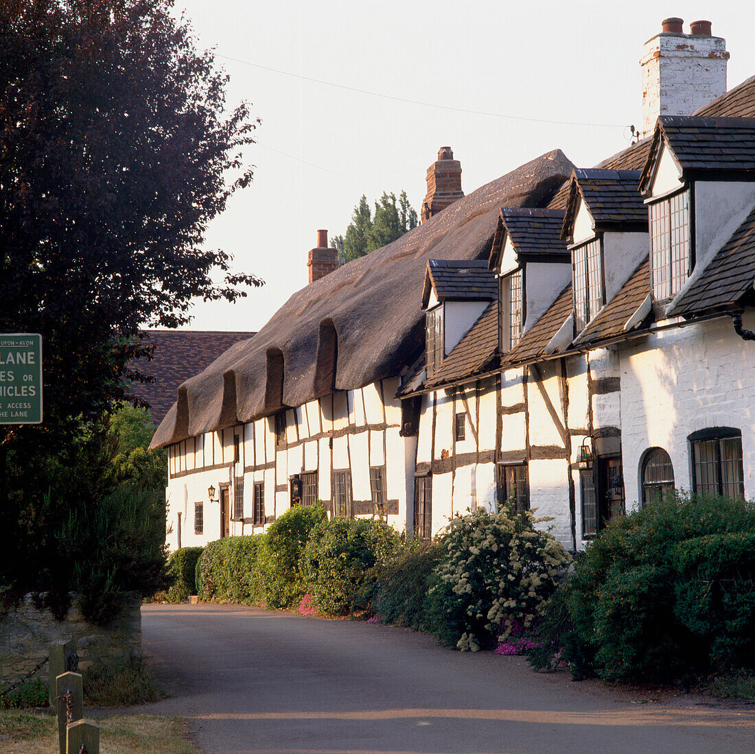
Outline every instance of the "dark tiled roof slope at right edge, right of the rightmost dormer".
<path fill-rule="evenodd" d="M 741 308 L 755 281 L 755 209 L 718 251 L 698 279 L 667 312 L 690 316 Z"/>

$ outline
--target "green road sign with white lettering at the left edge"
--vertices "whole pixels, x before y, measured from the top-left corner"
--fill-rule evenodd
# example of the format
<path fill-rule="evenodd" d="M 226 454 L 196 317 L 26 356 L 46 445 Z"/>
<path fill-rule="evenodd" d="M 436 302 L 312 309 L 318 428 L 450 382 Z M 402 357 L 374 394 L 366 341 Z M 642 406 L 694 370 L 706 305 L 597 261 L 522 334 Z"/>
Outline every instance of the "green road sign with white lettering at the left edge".
<path fill-rule="evenodd" d="M 0 424 L 42 423 L 42 335 L 0 333 Z"/>

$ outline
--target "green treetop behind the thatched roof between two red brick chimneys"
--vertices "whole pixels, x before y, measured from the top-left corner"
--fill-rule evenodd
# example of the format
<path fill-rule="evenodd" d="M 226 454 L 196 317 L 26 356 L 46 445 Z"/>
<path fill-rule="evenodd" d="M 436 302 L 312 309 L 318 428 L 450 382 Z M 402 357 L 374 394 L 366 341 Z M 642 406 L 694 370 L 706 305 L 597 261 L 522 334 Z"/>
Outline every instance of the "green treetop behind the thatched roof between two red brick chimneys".
<path fill-rule="evenodd" d="M 362 194 L 359 204 L 354 208 L 346 235 L 334 235 L 332 239 L 341 264 L 364 257 L 417 227 L 417 213 L 411 208 L 405 191 L 399 194 L 398 201 L 396 206 L 396 195 L 393 192 L 383 192 L 375 202 L 373 219 L 367 197 Z"/>

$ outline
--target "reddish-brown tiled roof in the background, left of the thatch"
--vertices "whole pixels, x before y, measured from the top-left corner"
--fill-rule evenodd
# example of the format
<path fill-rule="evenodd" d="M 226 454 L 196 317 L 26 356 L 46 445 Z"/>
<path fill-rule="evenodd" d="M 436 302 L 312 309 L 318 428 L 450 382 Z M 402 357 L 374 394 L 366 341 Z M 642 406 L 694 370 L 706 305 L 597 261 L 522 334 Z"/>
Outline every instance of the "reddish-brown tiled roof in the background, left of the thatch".
<path fill-rule="evenodd" d="M 162 421 L 174 404 L 181 383 L 199 374 L 234 343 L 248 340 L 253 332 L 143 330 L 148 339 L 143 342 L 155 346 L 153 358 L 147 362 L 137 359 L 129 368 L 155 378 L 153 383 L 132 383 L 131 392 L 149 404 L 154 423 Z"/>

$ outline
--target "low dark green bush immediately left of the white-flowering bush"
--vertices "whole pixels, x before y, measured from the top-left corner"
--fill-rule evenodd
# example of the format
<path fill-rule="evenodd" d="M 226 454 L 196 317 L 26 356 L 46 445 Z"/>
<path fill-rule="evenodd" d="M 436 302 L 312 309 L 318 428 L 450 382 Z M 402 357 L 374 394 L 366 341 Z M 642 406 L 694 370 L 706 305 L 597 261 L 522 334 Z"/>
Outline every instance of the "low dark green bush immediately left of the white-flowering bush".
<path fill-rule="evenodd" d="M 365 603 L 382 623 L 427 630 L 427 594 L 436 584 L 436 568 L 445 549 L 431 543 L 402 552 L 394 562 L 376 566 L 365 590 Z"/>

